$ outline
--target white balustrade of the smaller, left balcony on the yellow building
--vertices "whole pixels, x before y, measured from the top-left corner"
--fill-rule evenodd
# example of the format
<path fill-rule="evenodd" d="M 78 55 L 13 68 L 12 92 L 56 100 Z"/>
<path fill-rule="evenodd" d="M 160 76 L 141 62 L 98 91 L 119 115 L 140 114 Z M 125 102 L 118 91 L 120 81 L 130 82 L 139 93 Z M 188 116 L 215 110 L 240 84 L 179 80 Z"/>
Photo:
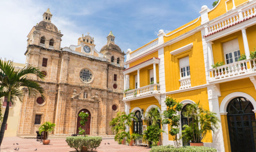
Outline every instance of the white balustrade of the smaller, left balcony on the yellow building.
<path fill-rule="evenodd" d="M 146 98 L 159 96 L 160 98 L 160 84 L 150 84 L 138 89 L 129 90 L 123 93 L 123 100 L 130 101 L 139 98 Z"/>

